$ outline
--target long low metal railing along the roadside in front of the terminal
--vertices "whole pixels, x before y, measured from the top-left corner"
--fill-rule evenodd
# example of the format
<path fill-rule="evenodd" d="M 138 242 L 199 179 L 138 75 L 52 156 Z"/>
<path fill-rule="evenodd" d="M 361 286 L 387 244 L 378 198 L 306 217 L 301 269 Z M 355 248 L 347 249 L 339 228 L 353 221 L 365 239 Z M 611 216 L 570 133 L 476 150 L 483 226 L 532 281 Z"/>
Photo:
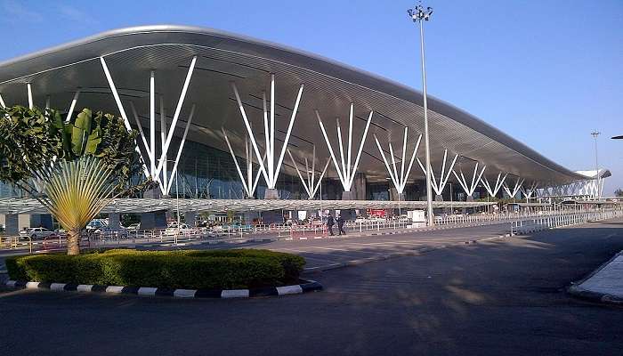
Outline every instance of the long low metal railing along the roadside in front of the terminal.
<path fill-rule="evenodd" d="M 461 225 L 467 223 L 490 224 L 509 222 L 511 223 L 511 234 L 526 233 L 551 229 L 571 224 L 586 223 L 588 221 L 598 221 L 623 216 L 620 209 L 603 210 L 556 210 L 552 212 L 530 213 L 530 214 L 471 214 L 471 215 L 449 215 L 439 216 L 435 219 L 435 225 Z M 418 226 L 419 224 L 419 226 Z M 412 227 L 425 227 L 423 223 L 413 223 L 410 220 L 369 220 L 347 222 L 344 225 L 347 233 L 366 234 L 374 231 L 387 231 L 398 229 L 409 229 Z M 337 234 L 337 226 L 334 226 L 334 233 Z M 137 244 L 181 244 L 200 240 L 246 240 L 254 236 L 271 234 L 274 238 L 307 238 L 313 239 L 328 235 L 327 226 L 319 222 L 308 224 L 230 224 L 213 228 L 192 228 L 192 229 L 154 229 L 154 230 L 122 230 L 105 232 L 85 232 L 80 244 L 83 247 L 132 247 Z M 29 237 L 0 237 L 0 250 L 28 250 L 30 253 L 35 251 L 50 251 L 62 249 L 67 246 L 66 237 L 58 234 L 43 240 L 33 240 Z"/>

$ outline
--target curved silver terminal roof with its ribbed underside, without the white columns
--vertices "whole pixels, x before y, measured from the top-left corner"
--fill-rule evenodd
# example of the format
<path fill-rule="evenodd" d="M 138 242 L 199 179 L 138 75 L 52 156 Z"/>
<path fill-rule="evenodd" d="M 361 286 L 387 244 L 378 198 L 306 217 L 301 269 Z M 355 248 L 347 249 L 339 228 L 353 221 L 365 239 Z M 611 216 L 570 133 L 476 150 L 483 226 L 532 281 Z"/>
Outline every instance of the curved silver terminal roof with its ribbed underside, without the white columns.
<path fill-rule="evenodd" d="M 186 103 L 197 104 L 189 134 L 192 141 L 227 150 L 219 134 L 221 127 L 226 126 L 238 134 L 238 140 L 232 143 L 242 152 L 245 128 L 229 83 L 235 81 L 239 86 L 251 121 L 261 127 L 261 95 L 268 90 L 271 73 L 276 75 L 276 115 L 281 138 L 285 136 L 298 85 L 305 84 L 289 145 L 299 158 L 309 154 L 313 144 L 320 158 L 328 157 L 314 109 L 320 110 L 326 125 L 335 117 L 342 117 L 345 123 L 349 103 L 353 102 L 357 117 L 353 146 L 359 143 L 368 111 L 375 110 L 359 169 L 372 179 L 384 179 L 387 173 L 371 134 L 376 134 L 382 144 L 392 142 L 394 148 L 399 148 L 395 154 L 400 160 L 404 126 L 410 129 L 409 142 L 415 142 L 417 133 L 423 132 L 422 93 L 417 90 L 312 53 L 210 28 L 122 28 L 4 61 L 0 63 L 0 93 L 8 105 L 24 104 L 28 100 L 24 84 L 31 83 L 36 104 L 43 106 L 45 96 L 50 95 L 52 107 L 67 108 L 73 93 L 80 88 L 78 108 L 117 112 L 101 70 L 99 57 L 103 56 L 124 105 L 134 101 L 142 125 L 146 126 L 150 70 L 156 70 L 156 90 L 164 96 L 169 115 L 180 96 L 190 58 L 195 55 L 197 67 L 182 109 L 183 122 L 190 111 L 190 104 Z M 252 111 L 253 108 L 259 110 Z M 127 107 L 126 111 L 130 112 Z M 465 168 L 465 172 L 478 161 L 487 165 L 485 175 L 489 177 L 505 172 L 521 176 L 526 182 L 546 184 L 585 178 L 464 110 L 430 96 L 429 118 L 436 172 L 441 169 L 443 150 L 447 149 L 460 156 L 457 167 Z M 178 125 L 179 131 L 182 128 Z M 335 133 L 335 125 L 328 125 L 328 131 Z M 423 147 L 418 151 L 420 158 Z M 286 169 L 292 172 L 291 167 Z M 335 172 L 329 175 L 336 176 Z M 414 166 L 411 178 L 423 175 Z"/>

